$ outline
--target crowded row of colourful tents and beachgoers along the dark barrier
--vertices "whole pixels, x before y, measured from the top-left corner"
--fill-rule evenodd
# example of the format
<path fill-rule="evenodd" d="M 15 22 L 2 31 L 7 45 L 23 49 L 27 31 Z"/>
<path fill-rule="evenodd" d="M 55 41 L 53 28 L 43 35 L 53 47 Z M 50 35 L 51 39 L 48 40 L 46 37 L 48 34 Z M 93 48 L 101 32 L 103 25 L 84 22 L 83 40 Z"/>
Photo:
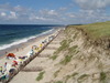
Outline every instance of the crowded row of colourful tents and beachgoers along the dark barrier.
<path fill-rule="evenodd" d="M 52 34 L 43 40 L 38 46 L 32 45 L 32 49 L 24 56 L 16 56 L 14 53 L 9 53 L 6 59 L 8 61 L 11 60 L 11 63 L 6 62 L 4 66 L 0 66 L 0 81 L 8 81 L 10 75 L 12 75 L 15 71 L 19 72 L 20 66 L 23 65 L 24 62 L 30 61 L 30 58 L 34 56 L 35 53 L 41 51 L 51 40 L 57 35 L 57 33 Z"/>

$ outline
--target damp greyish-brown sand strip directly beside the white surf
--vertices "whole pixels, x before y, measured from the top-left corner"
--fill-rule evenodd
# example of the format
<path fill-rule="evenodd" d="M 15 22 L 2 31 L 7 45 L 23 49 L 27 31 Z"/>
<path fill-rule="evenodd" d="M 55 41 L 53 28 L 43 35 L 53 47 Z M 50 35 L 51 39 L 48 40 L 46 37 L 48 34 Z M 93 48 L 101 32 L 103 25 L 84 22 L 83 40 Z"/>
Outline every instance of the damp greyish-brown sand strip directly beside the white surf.
<path fill-rule="evenodd" d="M 58 29 L 61 29 L 61 28 L 58 28 Z M 31 45 L 31 44 L 40 41 L 40 40 L 43 40 L 43 38 L 46 38 L 46 37 L 51 35 L 55 31 L 57 31 L 57 29 L 54 29 L 53 31 L 51 31 L 51 32 L 48 32 L 46 34 L 36 35 L 36 38 L 30 39 L 26 42 L 22 42 L 20 44 L 12 45 L 12 46 L 10 46 L 8 49 L 0 50 L 0 60 L 3 59 L 8 53 L 20 52 L 21 50 L 25 49 L 28 45 Z M 16 49 L 19 49 L 19 51 L 16 51 Z"/>

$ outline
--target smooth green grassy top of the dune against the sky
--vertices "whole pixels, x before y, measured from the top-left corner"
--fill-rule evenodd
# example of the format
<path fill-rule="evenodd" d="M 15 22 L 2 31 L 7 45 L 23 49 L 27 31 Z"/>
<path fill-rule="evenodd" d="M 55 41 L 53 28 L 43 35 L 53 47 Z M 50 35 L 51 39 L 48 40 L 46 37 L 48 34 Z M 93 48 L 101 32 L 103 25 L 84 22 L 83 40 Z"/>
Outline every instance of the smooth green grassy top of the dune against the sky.
<path fill-rule="evenodd" d="M 82 29 L 92 39 L 110 37 L 110 21 L 85 25 L 69 25 L 68 28 Z"/>

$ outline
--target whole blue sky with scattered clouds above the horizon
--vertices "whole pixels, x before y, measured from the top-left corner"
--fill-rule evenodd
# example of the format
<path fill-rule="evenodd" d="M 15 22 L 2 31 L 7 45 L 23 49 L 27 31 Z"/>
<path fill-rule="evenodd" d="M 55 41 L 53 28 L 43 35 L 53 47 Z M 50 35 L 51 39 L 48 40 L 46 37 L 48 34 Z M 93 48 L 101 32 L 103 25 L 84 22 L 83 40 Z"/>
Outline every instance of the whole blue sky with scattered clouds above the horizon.
<path fill-rule="evenodd" d="M 110 0 L 0 0 L 0 24 L 110 21 Z"/>

